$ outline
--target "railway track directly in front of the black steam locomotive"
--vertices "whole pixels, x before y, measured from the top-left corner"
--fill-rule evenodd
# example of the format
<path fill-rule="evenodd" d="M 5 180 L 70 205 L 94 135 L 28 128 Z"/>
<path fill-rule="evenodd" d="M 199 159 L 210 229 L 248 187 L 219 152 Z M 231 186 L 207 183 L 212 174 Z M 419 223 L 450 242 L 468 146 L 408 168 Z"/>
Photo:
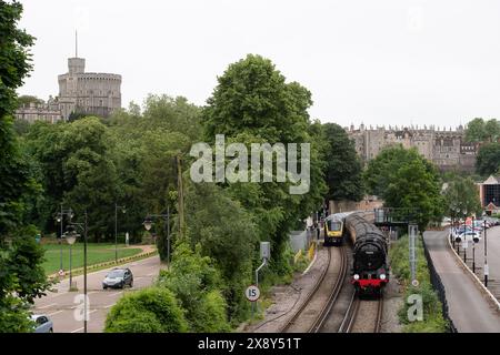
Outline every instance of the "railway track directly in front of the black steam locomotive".
<path fill-rule="evenodd" d="M 380 333 L 382 314 L 382 296 L 379 300 L 364 301 L 353 294 L 339 333 Z"/>

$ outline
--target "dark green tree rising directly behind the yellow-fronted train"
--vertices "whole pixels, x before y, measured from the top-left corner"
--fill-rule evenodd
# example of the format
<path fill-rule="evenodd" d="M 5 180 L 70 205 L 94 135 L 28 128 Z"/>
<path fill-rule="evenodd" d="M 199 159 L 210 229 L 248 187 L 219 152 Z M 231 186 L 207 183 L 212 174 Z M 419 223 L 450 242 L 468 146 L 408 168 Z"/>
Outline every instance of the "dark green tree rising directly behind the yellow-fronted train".
<path fill-rule="evenodd" d="M 363 196 L 362 165 L 354 143 L 336 123 L 323 124 L 323 131 L 322 139 L 328 142 L 323 155 L 327 200 L 360 201 Z"/>

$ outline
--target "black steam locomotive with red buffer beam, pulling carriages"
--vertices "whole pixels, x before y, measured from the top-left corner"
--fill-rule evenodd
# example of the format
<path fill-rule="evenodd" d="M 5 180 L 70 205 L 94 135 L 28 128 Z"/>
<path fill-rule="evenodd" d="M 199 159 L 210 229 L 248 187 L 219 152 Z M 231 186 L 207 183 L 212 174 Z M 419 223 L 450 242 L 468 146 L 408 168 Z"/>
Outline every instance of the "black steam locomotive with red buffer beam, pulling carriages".
<path fill-rule="evenodd" d="M 357 213 L 346 217 L 346 226 L 354 246 L 351 283 L 360 295 L 381 294 L 389 282 L 386 236 Z"/>

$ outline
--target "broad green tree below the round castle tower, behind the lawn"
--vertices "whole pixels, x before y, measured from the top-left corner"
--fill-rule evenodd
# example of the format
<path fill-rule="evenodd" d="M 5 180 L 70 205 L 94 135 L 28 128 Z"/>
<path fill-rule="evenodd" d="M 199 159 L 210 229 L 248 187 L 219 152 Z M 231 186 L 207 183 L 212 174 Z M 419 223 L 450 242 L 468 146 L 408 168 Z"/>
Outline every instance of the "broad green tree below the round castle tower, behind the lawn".
<path fill-rule="evenodd" d="M 27 141 L 46 191 L 46 207 L 40 211 L 43 227 L 54 227 L 53 214 L 63 203 L 80 217 L 88 211 L 90 236 L 112 235 L 120 182 L 110 155 L 109 129 L 97 118 L 71 124 L 34 123 Z"/>

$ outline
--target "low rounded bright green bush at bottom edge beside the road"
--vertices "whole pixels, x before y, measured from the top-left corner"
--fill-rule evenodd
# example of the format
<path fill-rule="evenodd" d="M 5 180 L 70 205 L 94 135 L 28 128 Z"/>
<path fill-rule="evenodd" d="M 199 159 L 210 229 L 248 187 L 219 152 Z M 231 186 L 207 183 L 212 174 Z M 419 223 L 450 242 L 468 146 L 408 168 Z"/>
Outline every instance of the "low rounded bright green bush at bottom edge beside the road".
<path fill-rule="evenodd" d="M 106 318 L 106 333 L 181 333 L 188 329 L 174 294 L 149 287 L 121 297 Z"/>

